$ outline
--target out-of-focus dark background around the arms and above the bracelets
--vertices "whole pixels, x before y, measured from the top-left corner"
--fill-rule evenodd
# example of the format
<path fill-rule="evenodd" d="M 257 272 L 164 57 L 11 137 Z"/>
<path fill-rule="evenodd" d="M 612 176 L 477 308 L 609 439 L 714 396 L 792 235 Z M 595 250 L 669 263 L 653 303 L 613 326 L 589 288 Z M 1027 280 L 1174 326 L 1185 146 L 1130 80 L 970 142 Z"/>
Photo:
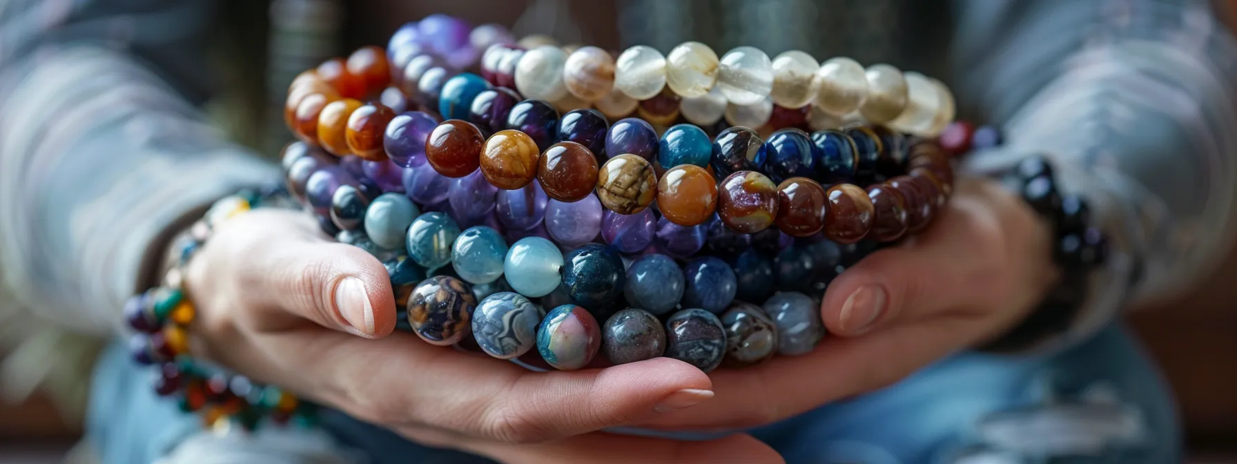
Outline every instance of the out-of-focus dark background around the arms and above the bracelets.
<path fill-rule="evenodd" d="M 1001 0 L 992 0 L 1001 1 Z M 1092 0 L 1060 0 L 1092 1 Z M 1215 0 L 1230 27 L 1237 1 Z M 324 58 L 361 45 L 385 45 L 406 21 L 442 12 L 495 22 L 517 37 L 543 33 L 559 43 L 622 49 L 643 43 L 663 52 L 695 40 L 725 51 L 750 45 L 774 56 L 802 49 L 816 57 L 888 62 L 948 79 L 948 63 L 927 62 L 949 46 L 949 17 L 927 1 L 898 0 L 220 0 L 226 14 L 203 63 L 219 89 L 204 101 L 235 140 L 275 156 L 291 137 L 282 103 L 292 78 Z M 0 0 L 0 7 L 4 1 Z M 1237 83 L 1235 83 L 1237 84 Z M 962 115 L 966 115 L 965 108 Z M 976 115 L 971 115 L 972 118 Z M 1237 130 L 1237 127 L 1235 127 Z M 1138 308 L 1131 319 L 1176 392 L 1191 459 L 1237 463 L 1237 254 L 1192 294 Z M 0 298 L 0 309 L 10 298 Z M 0 311 L 0 314 L 4 314 Z M 12 354 L 5 332 L 22 324 L 0 317 L 0 359 Z M 92 344 L 72 353 L 48 335 L 22 345 L 25 356 L 0 364 L 0 463 L 59 462 L 79 433 Z M 42 350 L 43 353 L 38 353 Z M 48 358 L 51 356 L 51 358 Z M 72 358 L 52 366 L 37 359 Z M 33 379 L 73 379 L 40 389 Z"/>

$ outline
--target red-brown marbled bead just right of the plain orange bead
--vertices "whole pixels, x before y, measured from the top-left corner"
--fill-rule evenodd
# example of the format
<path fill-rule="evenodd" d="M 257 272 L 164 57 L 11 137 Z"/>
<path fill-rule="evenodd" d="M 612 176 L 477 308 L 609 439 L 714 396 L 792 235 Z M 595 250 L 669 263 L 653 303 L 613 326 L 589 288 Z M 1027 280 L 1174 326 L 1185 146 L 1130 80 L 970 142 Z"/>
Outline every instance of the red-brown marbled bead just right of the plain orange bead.
<path fill-rule="evenodd" d="M 735 172 L 717 187 L 717 215 L 735 231 L 755 234 L 768 229 L 777 214 L 777 186 L 760 172 Z"/>

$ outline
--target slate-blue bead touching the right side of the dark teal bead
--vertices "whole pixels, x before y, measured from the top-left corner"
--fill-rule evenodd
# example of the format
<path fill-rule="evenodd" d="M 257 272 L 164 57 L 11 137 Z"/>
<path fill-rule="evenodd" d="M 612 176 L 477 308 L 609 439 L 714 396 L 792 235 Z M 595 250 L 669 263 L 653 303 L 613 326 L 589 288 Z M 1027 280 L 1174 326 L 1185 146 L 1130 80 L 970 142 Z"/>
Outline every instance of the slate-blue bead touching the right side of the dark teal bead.
<path fill-rule="evenodd" d="M 644 255 L 627 267 L 623 294 L 635 308 L 662 316 L 673 311 L 687 286 L 683 270 L 666 255 Z"/>

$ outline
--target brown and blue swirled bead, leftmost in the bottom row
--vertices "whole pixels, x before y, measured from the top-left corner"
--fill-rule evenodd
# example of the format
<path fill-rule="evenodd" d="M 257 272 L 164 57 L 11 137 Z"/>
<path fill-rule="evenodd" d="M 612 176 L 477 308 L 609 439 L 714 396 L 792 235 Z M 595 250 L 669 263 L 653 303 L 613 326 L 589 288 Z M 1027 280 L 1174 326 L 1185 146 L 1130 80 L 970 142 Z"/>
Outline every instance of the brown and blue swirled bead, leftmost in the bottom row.
<path fill-rule="evenodd" d="M 412 332 L 432 345 L 454 345 L 473 330 L 476 297 L 468 283 L 448 276 L 429 277 L 408 297 Z"/>

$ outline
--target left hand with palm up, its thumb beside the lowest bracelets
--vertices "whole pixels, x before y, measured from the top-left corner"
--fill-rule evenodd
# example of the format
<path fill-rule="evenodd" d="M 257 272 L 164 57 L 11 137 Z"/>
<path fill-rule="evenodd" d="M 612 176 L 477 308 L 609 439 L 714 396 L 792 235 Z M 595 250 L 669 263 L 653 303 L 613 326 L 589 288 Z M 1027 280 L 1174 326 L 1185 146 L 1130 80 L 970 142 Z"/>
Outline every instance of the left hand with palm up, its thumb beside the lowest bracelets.
<path fill-rule="evenodd" d="M 781 460 L 741 434 L 596 432 L 708 401 L 709 377 L 682 361 L 541 374 L 392 333 L 383 266 L 328 240 L 303 213 L 255 210 L 220 224 L 186 285 L 198 307 L 194 354 L 427 444 L 511 463 Z"/>

